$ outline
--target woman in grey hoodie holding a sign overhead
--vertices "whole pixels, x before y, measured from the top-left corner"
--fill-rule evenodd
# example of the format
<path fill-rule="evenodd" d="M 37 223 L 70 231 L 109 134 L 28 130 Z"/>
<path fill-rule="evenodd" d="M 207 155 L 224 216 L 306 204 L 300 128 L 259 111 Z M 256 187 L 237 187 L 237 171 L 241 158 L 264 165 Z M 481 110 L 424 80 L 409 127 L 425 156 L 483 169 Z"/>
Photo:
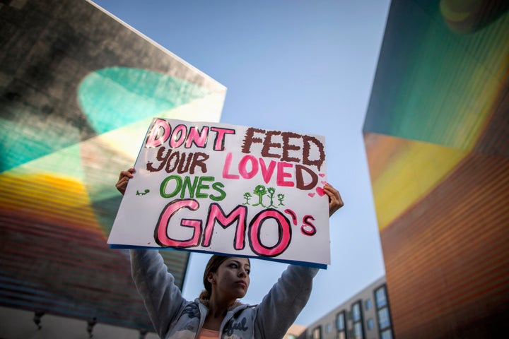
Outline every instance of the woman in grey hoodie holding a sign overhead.
<path fill-rule="evenodd" d="M 124 194 L 134 168 L 120 172 L 117 189 Z M 343 206 L 330 184 L 329 215 Z M 289 265 L 258 305 L 241 304 L 250 285 L 248 258 L 213 255 L 203 276 L 205 290 L 187 301 L 158 251 L 131 250 L 131 273 L 160 338 L 283 338 L 305 307 L 317 268 Z"/>

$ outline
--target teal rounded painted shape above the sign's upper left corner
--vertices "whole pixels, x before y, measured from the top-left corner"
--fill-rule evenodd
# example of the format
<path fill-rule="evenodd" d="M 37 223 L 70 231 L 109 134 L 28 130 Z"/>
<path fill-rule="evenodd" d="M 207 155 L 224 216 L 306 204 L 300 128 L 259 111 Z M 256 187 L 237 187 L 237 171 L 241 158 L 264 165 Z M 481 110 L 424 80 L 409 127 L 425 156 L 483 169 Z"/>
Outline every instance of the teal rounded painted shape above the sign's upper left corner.
<path fill-rule="evenodd" d="M 210 93 L 200 85 L 145 69 L 112 67 L 90 73 L 78 102 L 98 134 L 154 117 Z"/>

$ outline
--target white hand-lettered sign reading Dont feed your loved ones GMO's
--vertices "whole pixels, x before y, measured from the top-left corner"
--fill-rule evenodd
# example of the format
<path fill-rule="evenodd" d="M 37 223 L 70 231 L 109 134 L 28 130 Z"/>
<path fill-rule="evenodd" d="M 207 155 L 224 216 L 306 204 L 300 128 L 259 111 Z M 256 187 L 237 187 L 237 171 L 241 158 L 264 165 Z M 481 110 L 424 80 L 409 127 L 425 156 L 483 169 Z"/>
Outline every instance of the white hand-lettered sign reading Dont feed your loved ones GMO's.
<path fill-rule="evenodd" d="M 330 263 L 322 136 L 154 118 L 108 244 Z"/>

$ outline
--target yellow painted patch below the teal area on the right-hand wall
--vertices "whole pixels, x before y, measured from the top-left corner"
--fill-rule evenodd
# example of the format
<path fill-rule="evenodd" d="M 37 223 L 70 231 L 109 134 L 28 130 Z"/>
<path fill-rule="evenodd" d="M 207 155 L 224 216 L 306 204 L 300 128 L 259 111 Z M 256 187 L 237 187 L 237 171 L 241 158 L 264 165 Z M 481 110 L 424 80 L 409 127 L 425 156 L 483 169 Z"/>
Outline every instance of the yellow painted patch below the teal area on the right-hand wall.
<path fill-rule="evenodd" d="M 383 230 L 426 196 L 467 155 L 467 150 L 402 140 L 397 157 L 373 178 L 378 228 Z"/>

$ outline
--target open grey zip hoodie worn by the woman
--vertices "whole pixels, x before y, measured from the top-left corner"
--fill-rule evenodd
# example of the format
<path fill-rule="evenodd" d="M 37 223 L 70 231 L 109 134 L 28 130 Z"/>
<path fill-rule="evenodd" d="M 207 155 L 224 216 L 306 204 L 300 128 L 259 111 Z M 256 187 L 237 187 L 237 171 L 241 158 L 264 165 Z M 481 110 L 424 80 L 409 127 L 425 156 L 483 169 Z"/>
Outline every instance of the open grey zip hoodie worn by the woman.
<path fill-rule="evenodd" d="M 197 338 L 207 307 L 199 299 L 182 297 L 159 252 L 131 250 L 131 272 L 160 338 Z M 238 304 L 228 310 L 219 338 L 283 338 L 308 302 L 317 272 L 317 268 L 289 265 L 260 304 Z"/>

